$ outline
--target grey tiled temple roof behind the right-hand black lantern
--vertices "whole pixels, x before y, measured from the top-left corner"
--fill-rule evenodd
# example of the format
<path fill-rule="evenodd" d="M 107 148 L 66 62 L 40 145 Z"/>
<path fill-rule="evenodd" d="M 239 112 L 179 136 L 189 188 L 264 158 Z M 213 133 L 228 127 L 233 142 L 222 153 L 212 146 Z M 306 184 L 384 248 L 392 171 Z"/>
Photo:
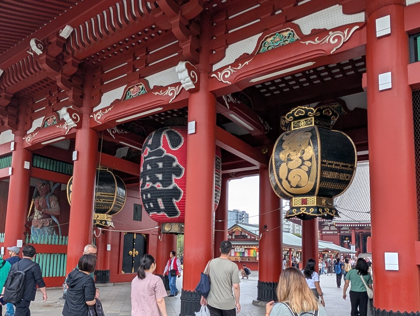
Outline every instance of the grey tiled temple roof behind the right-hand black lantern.
<path fill-rule="evenodd" d="M 352 184 L 347 191 L 334 199 L 334 204 L 340 217 L 333 219 L 333 223 L 370 224 L 369 162 L 357 164 Z"/>

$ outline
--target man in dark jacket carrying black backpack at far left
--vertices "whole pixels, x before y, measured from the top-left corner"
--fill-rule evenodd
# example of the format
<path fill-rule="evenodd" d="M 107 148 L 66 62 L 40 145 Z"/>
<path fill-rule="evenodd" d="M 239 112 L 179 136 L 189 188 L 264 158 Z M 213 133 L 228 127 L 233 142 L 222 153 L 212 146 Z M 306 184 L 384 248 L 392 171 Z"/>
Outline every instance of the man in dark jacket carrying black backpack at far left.
<path fill-rule="evenodd" d="M 15 304 L 15 316 L 30 316 L 29 305 L 35 300 L 37 285 L 42 292 L 43 302 L 47 301 L 47 291 L 41 268 L 32 261 L 36 254 L 34 246 L 26 245 L 22 252 L 23 259 L 12 266 L 0 298 Z"/>

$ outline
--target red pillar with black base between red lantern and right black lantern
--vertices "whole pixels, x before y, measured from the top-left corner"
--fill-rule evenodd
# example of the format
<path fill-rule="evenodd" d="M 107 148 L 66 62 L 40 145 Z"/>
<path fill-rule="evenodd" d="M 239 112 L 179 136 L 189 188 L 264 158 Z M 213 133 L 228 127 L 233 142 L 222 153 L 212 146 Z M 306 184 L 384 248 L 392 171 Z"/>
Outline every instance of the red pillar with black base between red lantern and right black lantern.
<path fill-rule="evenodd" d="M 195 121 L 195 132 L 187 142 L 181 316 L 199 310 L 200 297 L 194 289 L 213 257 L 216 99 L 209 92 L 207 73 L 200 77 L 200 90 L 190 94 L 188 102 L 188 121 Z"/>

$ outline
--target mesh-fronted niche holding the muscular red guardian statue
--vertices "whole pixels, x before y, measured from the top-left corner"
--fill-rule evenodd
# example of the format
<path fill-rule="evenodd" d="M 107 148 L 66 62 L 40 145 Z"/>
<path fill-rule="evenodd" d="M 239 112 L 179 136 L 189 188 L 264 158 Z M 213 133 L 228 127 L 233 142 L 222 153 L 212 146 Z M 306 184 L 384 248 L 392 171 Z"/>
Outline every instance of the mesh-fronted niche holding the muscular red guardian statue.
<path fill-rule="evenodd" d="M 66 184 L 31 178 L 26 243 L 67 245 L 69 217 Z"/>

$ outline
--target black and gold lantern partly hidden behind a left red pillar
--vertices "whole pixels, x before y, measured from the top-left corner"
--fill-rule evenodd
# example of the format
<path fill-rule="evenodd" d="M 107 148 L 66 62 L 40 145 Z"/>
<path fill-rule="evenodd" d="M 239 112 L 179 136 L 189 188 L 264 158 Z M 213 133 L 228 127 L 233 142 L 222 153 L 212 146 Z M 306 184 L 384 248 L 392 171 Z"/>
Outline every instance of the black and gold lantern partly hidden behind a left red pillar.
<path fill-rule="evenodd" d="M 67 183 L 67 199 L 71 205 L 73 177 Z M 93 224 L 96 227 L 114 227 L 112 215 L 121 211 L 126 203 L 126 185 L 107 167 L 96 168 L 95 204 Z"/>

